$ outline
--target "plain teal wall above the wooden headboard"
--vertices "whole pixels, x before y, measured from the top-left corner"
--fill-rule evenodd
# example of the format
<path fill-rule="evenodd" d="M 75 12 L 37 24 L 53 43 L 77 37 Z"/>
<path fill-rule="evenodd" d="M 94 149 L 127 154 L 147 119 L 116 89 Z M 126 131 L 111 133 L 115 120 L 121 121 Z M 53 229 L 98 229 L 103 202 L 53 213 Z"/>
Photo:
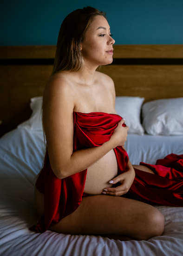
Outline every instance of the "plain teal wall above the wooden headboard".
<path fill-rule="evenodd" d="M 4 0 L 0 45 L 56 45 L 75 9 L 105 11 L 116 44 L 183 44 L 183 0 Z"/>

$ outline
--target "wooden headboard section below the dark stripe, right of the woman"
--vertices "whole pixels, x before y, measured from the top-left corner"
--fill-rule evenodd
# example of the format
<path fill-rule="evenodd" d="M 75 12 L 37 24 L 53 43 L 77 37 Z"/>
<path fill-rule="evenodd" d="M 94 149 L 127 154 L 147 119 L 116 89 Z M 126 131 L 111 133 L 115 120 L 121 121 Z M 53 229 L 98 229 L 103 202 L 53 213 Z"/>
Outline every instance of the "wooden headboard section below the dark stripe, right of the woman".
<path fill-rule="evenodd" d="M 145 102 L 160 98 L 183 97 L 183 66 L 102 66 L 111 76 L 116 96 L 144 97 Z"/>

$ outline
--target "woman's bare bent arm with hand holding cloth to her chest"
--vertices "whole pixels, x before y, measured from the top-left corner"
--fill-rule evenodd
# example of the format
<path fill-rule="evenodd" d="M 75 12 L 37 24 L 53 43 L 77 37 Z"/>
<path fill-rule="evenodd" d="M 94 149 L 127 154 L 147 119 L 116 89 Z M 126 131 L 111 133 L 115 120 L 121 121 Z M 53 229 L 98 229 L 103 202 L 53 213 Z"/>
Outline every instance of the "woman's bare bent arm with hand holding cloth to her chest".
<path fill-rule="evenodd" d="M 51 78 L 43 96 L 43 125 L 52 171 L 59 179 L 93 165 L 127 136 L 128 128 L 122 127 L 122 120 L 115 129 L 115 136 L 102 146 L 73 152 L 74 105 L 71 85 L 60 77 Z"/>

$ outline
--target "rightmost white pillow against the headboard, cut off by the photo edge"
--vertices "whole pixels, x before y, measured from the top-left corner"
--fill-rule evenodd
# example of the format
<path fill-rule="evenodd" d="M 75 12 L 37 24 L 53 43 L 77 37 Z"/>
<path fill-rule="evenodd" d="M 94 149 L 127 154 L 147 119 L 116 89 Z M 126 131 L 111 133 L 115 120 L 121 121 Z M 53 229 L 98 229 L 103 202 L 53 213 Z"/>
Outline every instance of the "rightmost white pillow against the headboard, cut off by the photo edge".
<path fill-rule="evenodd" d="M 183 135 L 183 98 L 159 99 L 142 107 L 143 126 L 152 135 Z"/>

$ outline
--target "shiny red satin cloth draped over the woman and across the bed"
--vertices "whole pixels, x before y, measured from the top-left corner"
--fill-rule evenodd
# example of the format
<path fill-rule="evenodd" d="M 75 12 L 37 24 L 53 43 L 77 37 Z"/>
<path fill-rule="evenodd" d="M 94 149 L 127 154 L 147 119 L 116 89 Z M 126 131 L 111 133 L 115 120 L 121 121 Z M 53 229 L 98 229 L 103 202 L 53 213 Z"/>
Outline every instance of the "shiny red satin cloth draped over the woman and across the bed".
<path fill-rule="evenodd" d="M 73 151 L 101 146 L 111 138 L 121 119 L 116 114 L 103 112 L 73 112 Z M 114 148 L 114 152 L 119 175 L 125 172 L 128 155 L 121 146 Z M 170 154 L 157 160 L 156 165 L 141 165 L 148 166 L 157 175 L 135 169 L 136 177 L 125 197 L 167 206 L 183 206 L 183 155 Z M 45 214 L 31 230 L 45 232 L 78 208 L 86 173 L 87 169 L 58 179 L 52 172 L 46 151 L 44 166 L 36 181 L 36 188 L 45 194 Z"/>

